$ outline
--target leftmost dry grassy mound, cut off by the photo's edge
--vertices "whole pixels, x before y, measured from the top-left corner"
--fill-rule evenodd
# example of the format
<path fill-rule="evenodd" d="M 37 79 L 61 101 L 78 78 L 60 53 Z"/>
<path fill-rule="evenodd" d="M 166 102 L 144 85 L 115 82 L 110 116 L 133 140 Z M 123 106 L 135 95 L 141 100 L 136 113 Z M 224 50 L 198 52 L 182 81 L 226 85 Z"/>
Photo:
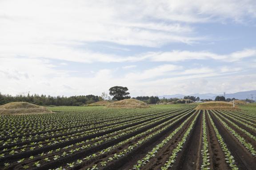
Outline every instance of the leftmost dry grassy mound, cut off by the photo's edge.
<path fill-rule="evenodd" d="M 27 102 L 11 102 L 0 106 L 0 115 L 26 115 L 51 112 L 46 107 Z"/>

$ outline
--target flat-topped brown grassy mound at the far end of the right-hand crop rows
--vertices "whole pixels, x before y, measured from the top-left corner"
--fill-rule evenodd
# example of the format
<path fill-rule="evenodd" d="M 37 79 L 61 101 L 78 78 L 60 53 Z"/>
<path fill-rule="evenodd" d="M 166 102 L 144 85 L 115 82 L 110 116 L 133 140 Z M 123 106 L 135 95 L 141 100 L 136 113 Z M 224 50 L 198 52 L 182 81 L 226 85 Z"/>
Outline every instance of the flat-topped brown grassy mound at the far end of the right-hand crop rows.
<path fill-rule="evenodd" d="M 211 101 L 199 104 L 196 109 L 198 110 L 240 110 L 236 105 L 233 107 L 232 103 L 225 101 Z"/>

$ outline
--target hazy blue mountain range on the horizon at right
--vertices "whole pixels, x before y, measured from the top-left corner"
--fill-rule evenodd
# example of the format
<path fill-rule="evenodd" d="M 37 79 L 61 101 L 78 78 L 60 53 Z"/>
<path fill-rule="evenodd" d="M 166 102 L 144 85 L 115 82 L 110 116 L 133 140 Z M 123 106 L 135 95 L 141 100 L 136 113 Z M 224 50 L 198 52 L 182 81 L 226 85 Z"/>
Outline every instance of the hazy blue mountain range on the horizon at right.
<path fill-rule="evenodd" d="M 236 98 L 239 100 L 244 100 L 244 99 L 251 99 L 251 95 L 253 94 L 253 99 L 255 100 L 256 97 L 256 90 L 251 90 L 251 91 L 245 91 L 245 92 L 237 92 L 237 93 L 229 93 L 226 94 L 226 98 Z M 224 94 L 213 94 L 213 93 L 204 93 L 204 94 L 200 94 L 200 93 L 196 93 L 196 94 L 189 94 L 189 95 L 184 95 L 184 94 L 174 94 L 174 95 L 163 95 L 163 96 L 158 96 L 160 99 L 162 98 L 182 98 L 184 96 L 195 96 L 195 97 L 200 97 L 200 99 L 212 99 L 214 100 L 216 96 L 224 96 Z"/>

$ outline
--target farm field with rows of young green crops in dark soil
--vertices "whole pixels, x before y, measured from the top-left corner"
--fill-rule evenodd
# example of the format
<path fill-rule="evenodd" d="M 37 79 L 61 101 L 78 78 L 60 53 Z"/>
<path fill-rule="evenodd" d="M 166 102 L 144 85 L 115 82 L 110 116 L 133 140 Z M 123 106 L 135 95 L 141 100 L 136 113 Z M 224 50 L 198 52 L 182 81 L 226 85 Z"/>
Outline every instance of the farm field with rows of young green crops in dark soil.
<path fill-rule="evenodd" d="M 0 116 L 0 170 L 255 170 L 256 107 L 53 107 Z"/>

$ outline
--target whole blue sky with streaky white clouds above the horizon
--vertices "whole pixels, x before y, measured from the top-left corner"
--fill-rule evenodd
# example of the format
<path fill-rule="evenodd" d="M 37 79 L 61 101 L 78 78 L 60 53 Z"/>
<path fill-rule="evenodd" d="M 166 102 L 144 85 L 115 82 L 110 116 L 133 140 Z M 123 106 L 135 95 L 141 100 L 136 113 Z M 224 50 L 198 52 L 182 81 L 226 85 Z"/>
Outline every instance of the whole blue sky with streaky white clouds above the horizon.
<path fill-rule="evenodd" d="M 256 0 L 0 0 L 0 93 L 256 89 Z"/>

